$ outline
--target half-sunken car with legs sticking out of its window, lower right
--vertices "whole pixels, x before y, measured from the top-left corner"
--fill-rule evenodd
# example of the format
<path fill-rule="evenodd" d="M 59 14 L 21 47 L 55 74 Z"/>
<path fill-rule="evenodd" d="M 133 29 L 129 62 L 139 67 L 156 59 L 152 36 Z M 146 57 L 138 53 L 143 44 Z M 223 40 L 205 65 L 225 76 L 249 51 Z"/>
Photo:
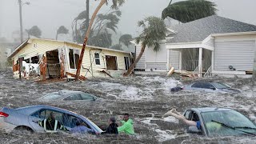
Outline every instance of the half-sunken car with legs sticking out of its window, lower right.
<path fill-rule="evenodd" d="M 200 121 L 201 128 L 190 126 L 190 133 L 212 136 L 252 135 L 256 136 L 256 125 L 238 111 L 227 108 L 192 108 L 186 110 L 184 117 L 191 121 Z"/>

